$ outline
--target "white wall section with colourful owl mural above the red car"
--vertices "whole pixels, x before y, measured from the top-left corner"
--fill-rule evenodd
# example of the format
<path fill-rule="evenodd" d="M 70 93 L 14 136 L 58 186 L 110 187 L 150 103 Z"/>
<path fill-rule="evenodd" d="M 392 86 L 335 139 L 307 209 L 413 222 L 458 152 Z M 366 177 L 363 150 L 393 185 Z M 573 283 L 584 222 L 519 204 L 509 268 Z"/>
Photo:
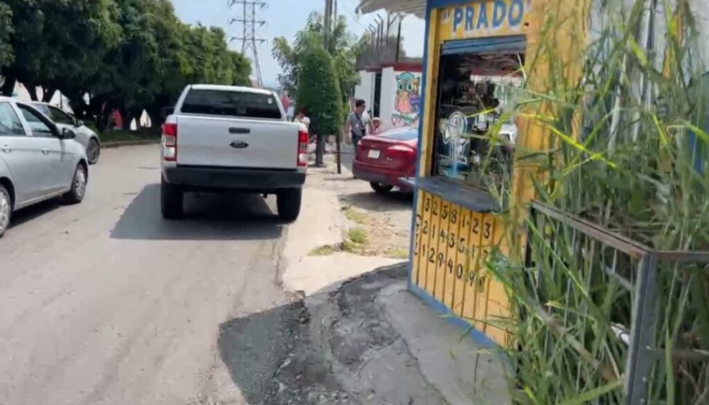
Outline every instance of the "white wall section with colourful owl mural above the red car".
<path fill-rule="evenodd" d="M 381 70 L 381 106 L 379 118 L 384 128 L 418 127 L 421 99 L 421 73 Z"/>

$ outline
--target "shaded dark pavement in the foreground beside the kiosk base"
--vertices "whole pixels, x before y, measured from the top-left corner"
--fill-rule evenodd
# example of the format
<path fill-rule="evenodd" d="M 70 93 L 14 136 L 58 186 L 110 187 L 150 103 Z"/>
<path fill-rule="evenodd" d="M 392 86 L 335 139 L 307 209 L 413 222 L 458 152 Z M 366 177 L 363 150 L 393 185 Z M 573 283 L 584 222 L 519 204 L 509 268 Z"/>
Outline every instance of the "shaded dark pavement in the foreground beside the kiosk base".
<path fill-rule="evenodd" d="M 219 346 L 250 404 L 510 403 L 497 355 L 461 337 L 406 290 L 403 263 L 224 323 Z"/>

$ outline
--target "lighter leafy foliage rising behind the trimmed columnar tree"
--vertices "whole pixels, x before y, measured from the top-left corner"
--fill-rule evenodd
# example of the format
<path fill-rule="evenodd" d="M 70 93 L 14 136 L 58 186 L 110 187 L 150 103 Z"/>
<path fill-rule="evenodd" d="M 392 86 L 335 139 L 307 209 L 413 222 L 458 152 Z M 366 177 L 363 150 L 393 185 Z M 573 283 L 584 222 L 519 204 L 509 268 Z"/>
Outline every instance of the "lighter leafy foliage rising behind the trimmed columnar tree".
<path fill-rule="evenodd" d="M 291 94 L 298 88 L 298 77 L 304 63 L 304 55 L 308 49 L 316 46 L 325 47 L 325 26 L 323 16 L 319 13 L 311 13 L 308 16 L 306 26 L 298 31 L 292 45 L 284 37 L 274 39 L 272 52 L 283 70 L 283 74 L 279 74 L 279 82 Z M 340 82 L 342 101 L 346 101 L 354 87 L 359 84 L 359 74 L 354 64 L 357 52 L 362 49 L 362 43 L 347 31 L 347 21 L 344 16 L 337 18 L 333 24 L 327 48 L 333 58 L 335 72 Z"/>

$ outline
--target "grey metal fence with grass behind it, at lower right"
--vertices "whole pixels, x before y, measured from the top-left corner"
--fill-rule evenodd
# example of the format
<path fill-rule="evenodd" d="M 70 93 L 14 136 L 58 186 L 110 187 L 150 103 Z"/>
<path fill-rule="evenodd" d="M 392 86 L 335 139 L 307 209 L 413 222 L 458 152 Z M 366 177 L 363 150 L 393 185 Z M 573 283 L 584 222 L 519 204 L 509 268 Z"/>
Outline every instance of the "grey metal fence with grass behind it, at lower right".
<path fill-rule="evenodd" d="M 708 263 L 707 252 L 654 250 L 532 204 L 527 267 L 536 272 L 530 282 L 538 315 L 569 333 L 566 340 L 582 354 L 578 364 L 560 362 L 559 372 L 576 373 L 579 392 L 588 382 L 584 367 L 623 378 L 623 392 L 594 400 L 598 404 L 666 403 L 669 397 L 676 404 L 709 404 L 709 351 L 703 350 L 709 342 L 697 333 L 709 327 L 709 305 L 702 311 L 702 303 L 709 304 Z M 599 316 L 610 319 L 599 322 Z M 593 347 L 602 333 L 606 350 Z M 555 336 L 545 331 L 541 344 L 549 358 L 559 357 Z"/>

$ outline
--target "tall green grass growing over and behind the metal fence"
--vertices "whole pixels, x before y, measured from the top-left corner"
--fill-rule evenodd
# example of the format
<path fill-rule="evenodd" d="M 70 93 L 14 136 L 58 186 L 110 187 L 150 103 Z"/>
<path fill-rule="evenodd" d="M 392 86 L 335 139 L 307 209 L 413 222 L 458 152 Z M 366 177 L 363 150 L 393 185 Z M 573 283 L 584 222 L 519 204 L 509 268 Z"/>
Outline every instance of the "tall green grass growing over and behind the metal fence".
<path fill-rule="evenodd" d="M 538 170 L 523 176 L 539 201 L 653 249 L 709 250 L 709 170 L 696 167 L 709 156 L 709 76 L 693 10 L 707 5 L 692 3 L 599 0 L 583 21 L 545 13 L 540 46 L 527 55 L 527 88 L 506 111 L 545 128 L 543 150 L 518 145 L 515 152 L 515 170 Z M 565 31 L 571 50 L 556 35 L 569 26 L 591 33 Z M 564 62 L 569 52 L 582 55 L 579 77 Z M 542 63 L 543 90 L 529 85 Z M 510 190 L 511 176 L 493 192 L 504 199 Z M 635 282 L 637 260 L 563 223 L 518 212 L 505 218 L 511 253 L 488 265 L 517 315 L 491 321 L 515 343 L 508 351 L 515 401 L 625 403 L 628 349 L 618 331 L 630 327 L 633 296 L 603 269 Z M 667 355 L 649 376 L 645 404 L 709 404 L 709 362 L 671 355 L 709 350 L 708 267 L 659 263 L 653 311 L 653 345 Z"/>

